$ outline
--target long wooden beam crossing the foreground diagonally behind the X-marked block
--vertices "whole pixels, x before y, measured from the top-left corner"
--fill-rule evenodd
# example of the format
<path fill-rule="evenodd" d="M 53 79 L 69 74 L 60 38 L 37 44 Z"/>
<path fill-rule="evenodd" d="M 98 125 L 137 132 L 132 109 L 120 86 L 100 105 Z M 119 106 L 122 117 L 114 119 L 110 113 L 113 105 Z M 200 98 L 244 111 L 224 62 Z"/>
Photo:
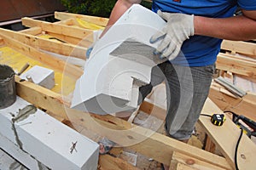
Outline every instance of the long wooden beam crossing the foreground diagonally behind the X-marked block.
<path fill-rule="evenodd" d="M 32 85 L 31 82 L 26 83 L 30 83 L 30 85 Z M 23 83 L 20 83 L 21 87 L 22 85 Z M 32 86 L 37 85 L 33 84 Z M 35 91 L 35 89 L 33 88 L 32 91 Z M 189 144 L 184 144 L 175 139 L 166 137 L 160 133 L 155 133 L 149 129 L 137 127 L 129 122 L 120 120 L 117 117 L 96 116 L 94 114 L 88 114 L 84 111 L 75 111 L 70 108 L 64 109 L 64 106 L 61 106 L 61 104 L 52 105 L 51 103 L 56 104 L 57 102 L 61 101 L 53 99 L 50 96 L 45 97 L 45 95 L 48 95 L 44 94 L 45 92 L 41 90 L 37 95 L 26 95 L 23 94 L 22 91 L 19 93 L 25 97 L 24 99 L 33 100 L 35 105 L 40 105 L 42 102 L 44 102 L 44 104 L 49 103 L 49 105 L 44 106 L 45 110 L 52 111 L 57 109 L 59 111 L 64 111 L 67 113 L 67 116 L 71 122 L 75 122 L 87 130 L 98 133 L 101 136 L 105 136 L 117 144 L 126 146 L 132 150 L 136 150 L 145 156 L 152 157 L 154 160 L 163 162 L 167 165 L 171 161 L 172 151 L 177 150 L 178 152 L 181 152 L 185 155 L 195 157 L 201 161 L 207 161 L 218 167 L 230 167 L 227 161 L 225 161 L 225 159 L 220 156 L 213 155 L 212 153 L 208 153 L 205 150 L 200 150 L 190 146 Z M 40 98 L 40 100 L 34 100 L 35 98 Z"/>

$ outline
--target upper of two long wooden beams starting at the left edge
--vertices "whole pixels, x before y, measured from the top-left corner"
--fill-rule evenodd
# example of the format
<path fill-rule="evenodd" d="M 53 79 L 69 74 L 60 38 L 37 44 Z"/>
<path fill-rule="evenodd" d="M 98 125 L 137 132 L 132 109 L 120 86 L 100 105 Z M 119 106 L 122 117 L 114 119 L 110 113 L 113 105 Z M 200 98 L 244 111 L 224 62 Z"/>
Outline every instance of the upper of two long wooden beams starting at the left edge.
<path fill-rule="evenodd" d="M 27 45 L 32 46 L 34 48 L 41 48 L 56 54 L 73 56 L 79 59 L 86 59 L 85 53 L 87 48 L 82 48 L 79 46 L 75 46 L 73 44 L 52 41 L 49 39 L 36 37 L 29 34 L 20 33 L 17 31 L 9 31 L 2 28 L 0 28 L 0 33 L 2 33 L 5 36 L 12 37 L 19 42 L 26 43 Z"/>

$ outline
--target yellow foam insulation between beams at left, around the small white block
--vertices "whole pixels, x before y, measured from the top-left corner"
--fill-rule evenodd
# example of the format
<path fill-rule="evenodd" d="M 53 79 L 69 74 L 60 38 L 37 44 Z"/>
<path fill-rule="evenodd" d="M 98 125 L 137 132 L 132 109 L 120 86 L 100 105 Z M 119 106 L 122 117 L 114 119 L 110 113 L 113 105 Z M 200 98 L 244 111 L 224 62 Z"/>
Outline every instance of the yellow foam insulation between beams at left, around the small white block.
<path fill-rule="evenodd" d="M 30 65 L 29 68 L 34 65 L 39 65 L 54 70 L 54 68 L 44 65 L 38 60 L 27 57 L 24 54 L 20 54 L 12 48 L 6 46 L 0 47 L 0 64 L 9 65 L 15 72 L 19 72 L 26 63 Z M 29 68 L 26 69 L 26 71 L 28 71 Z M 55 93 L 67 96 L 73 92 L 75 82 L 76 80 L 73 78 L 64 76 L 60 71 L 55 71 L 55 87 L 51 90 Z"/>

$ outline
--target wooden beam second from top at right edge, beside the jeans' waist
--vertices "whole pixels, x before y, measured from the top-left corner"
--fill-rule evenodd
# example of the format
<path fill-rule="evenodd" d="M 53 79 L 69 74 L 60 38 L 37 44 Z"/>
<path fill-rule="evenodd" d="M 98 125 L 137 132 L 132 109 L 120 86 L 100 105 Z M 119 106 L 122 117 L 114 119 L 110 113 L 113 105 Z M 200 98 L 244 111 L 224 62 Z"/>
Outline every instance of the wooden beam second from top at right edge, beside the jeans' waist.
<path fill-rule="evenodd" d="M 218 54 L 216 68 L 252 77 L 253 79 L 256 78 L 256 62 L 254 59 L 244 59 L 230 54 Z"/>

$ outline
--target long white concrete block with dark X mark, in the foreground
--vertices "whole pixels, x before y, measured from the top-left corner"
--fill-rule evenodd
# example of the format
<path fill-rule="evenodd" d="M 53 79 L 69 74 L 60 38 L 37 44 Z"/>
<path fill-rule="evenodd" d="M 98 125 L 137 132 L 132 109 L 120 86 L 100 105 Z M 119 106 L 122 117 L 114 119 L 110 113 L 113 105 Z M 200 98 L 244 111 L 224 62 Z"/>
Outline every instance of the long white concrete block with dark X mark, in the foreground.
<path fill-rule="evenodd" d="M 27 105 L 17 97 L 14 105 L 0 110 L 0 133 L 6 139 L 50 169 L 96 169 L 98 144 Z"/>

